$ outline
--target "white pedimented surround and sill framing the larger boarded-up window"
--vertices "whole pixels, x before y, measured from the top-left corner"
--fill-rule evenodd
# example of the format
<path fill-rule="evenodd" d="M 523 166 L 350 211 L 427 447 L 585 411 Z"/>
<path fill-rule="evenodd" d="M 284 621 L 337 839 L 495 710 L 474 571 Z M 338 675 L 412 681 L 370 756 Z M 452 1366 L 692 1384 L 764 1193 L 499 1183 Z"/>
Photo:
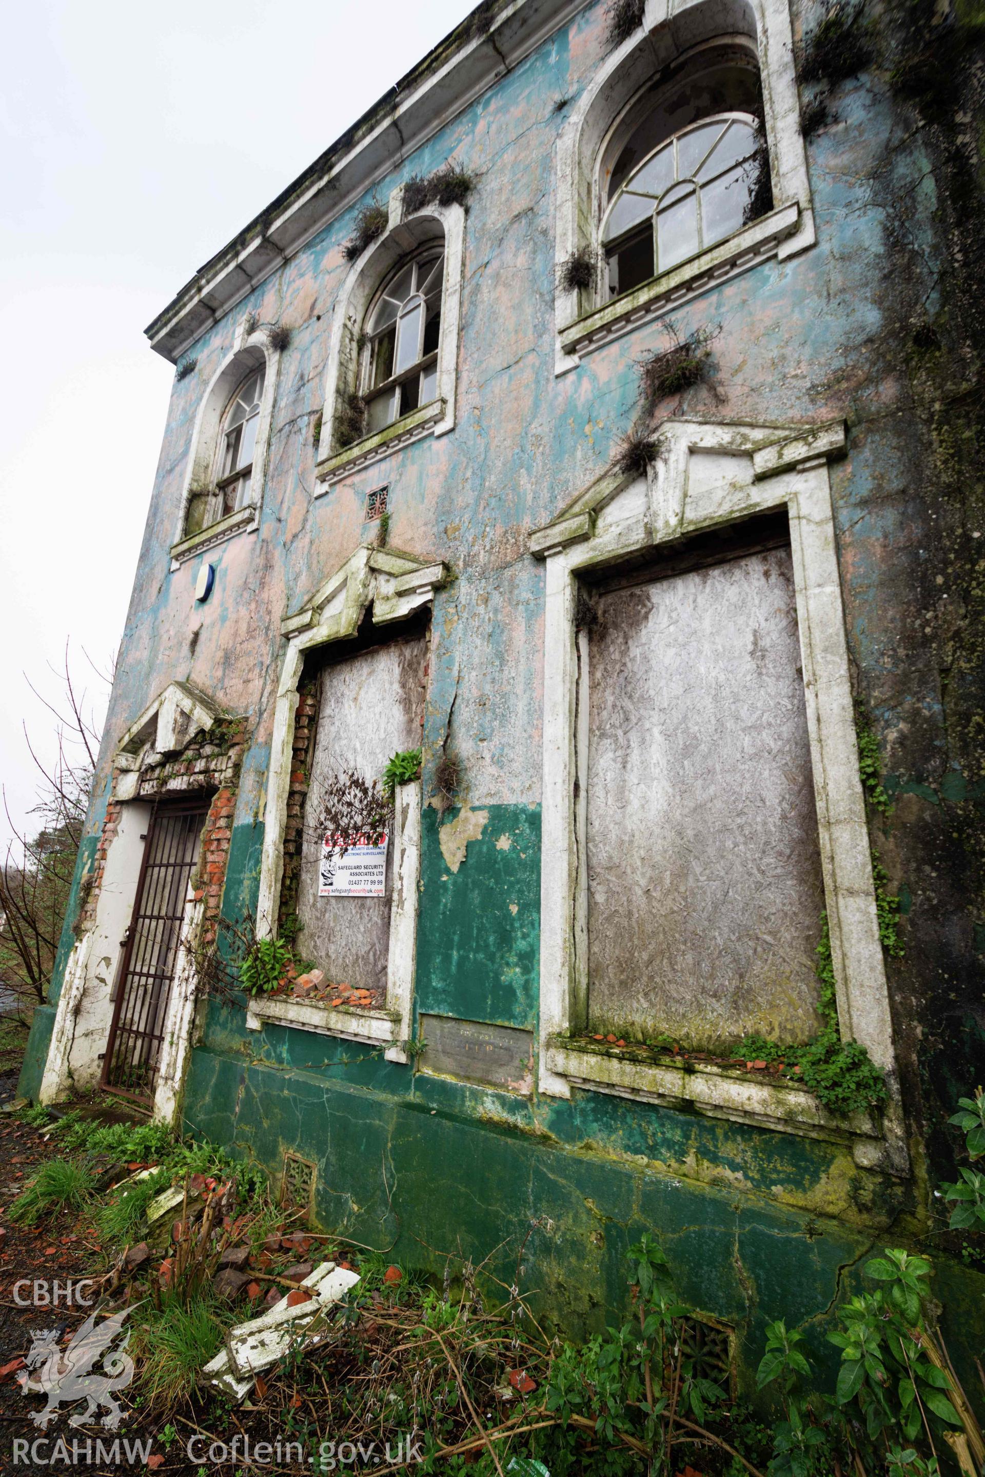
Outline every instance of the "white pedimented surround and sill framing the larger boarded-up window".
<path fill-rule="evenodd" d="M 666 421 L 648 477 L 605 473 L 530 539 L 545 560 L 539 1090 L 572 1086 L 710 1117 L 846 1142 L 857 1164 L 908 1174 L 889 994 L 873 889 L 827 458 L 845 427 Z M 585 716 L 577 715 L 577 573 L 654 545 L 787 510 L 814 790 L 842 1035 L 886 1074 L 880 1115 L 828 1114 L 806 1089 L 704 1063 L 639 1060 L 579 1040 L 585 1029 L 585 799 L 576 801 Z M 585 705 L 582 705 L 583 709 Z"/>

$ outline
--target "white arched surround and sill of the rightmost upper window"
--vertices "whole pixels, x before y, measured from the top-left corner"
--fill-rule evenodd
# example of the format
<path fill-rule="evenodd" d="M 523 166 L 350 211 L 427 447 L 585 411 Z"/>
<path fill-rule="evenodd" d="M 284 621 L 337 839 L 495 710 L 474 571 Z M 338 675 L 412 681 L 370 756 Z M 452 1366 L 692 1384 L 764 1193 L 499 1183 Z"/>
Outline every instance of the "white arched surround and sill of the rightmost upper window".
<path fill-rule="evenodd" d="M 591 294 L 589 304 L 588 294 L 566 291 L 558 282 L 554 294 L 555 374 L 566 374 L 577 366 L 583 354 L 631 332 L 641 322 L 672 312 L 766 257 L 783 260 L 814 245 L 811 183 L 800 133 L 787 0 L 647 0 L 642 27 L 600 65 L 555 143 L 558 273 L 574 251 L 598 248 L 605 208 L 598 162 L 626 108 L 676 56 L 719 40 L 738 40 L 756 47 L 774 210 L 681 266 L 610 301 Z"/>

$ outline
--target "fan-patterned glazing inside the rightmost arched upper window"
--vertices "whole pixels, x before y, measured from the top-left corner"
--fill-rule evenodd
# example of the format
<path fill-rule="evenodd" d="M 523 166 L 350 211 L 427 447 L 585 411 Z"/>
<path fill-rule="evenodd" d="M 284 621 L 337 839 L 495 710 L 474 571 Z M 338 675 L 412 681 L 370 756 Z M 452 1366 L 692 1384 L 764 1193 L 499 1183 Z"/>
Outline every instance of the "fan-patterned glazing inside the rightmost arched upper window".
<path fill-rule="evenodd" d="M 639 155 L 647 118 L 623 149 Z M 728 112 L 673 134 L 628 171 L 616 168 L 603 219 L 610 297 L 629 292 L 738 230 L 755 189 L 756 121 Z"/>

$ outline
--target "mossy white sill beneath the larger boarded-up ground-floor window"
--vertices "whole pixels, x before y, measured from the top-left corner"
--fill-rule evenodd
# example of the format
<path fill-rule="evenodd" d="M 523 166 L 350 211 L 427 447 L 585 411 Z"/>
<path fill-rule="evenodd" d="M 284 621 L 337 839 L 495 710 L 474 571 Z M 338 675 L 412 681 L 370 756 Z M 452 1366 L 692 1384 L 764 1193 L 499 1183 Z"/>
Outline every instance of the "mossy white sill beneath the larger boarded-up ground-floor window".
<path fill-rule="evenodd" d="M 579 1038 L 549 1037 L 546 1065 L 573 1087 L 613 1093 L 662 1108 L 682 1108 L 710 1118 L 731 1118 L 759 1128 L 848 1143 L 862 1168 L 899 1173 L 886 1152 L 882 1125 L 868 1112 L 836 1118 L 799 1083 L 750 1080 L 709 1062 L 641 1060 L 632 1049 L 589 1046 Z"/>

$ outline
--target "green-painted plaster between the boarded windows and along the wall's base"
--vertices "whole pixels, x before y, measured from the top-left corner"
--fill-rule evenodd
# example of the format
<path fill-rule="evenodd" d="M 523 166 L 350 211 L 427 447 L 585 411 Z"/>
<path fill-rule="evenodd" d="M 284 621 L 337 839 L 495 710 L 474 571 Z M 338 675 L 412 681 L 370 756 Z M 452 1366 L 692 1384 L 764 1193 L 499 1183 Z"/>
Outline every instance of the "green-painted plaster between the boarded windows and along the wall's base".
<path fill-rule="evenodd" d="M 539 808 L 484 809 L 458 870 L 425 811 L 415 1010 L 536 1029 Z M 242 848 L 244 866 L 254 854 Z M 242 1009 L 211 1001 L 185 1123 L 275 1180 L 286 1151 L 313 1161 L 318 1223 L 408 1264 L 492 1254 L 489 1270 L 511 1282 L 526 1238 L 521 1284 L 538 1316 L 573 1334 L 622 1310 L 623 1252 L 656 1232 L 681 1298 L 734 1325 L 746 1394 L 774 1317 L 805 1326 L 833 1374 L 831 1309 L 861 1286 L 880 1238 L 898 1239 L 910 1186 L 857 1168 L 839 1145 L 594 1092 L 524 1097 L 425 1063 L 284 1027 L 247 1031 Z M 941 1264 L 938 1288 L 970 1382 L 985 1278 Z"/>

